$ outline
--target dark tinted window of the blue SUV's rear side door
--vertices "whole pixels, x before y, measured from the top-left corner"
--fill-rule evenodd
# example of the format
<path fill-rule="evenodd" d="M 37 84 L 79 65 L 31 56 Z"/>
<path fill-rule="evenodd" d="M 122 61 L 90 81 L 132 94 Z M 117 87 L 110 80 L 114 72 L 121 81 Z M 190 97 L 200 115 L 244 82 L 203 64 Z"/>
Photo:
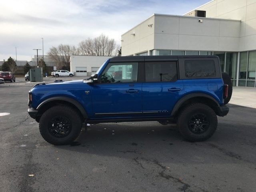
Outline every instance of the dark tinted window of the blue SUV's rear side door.
<path fill-rule="evenodd" d="M 145 62 L 146 82 L 175 82 L 177 79 L 176 62 Z"/>

